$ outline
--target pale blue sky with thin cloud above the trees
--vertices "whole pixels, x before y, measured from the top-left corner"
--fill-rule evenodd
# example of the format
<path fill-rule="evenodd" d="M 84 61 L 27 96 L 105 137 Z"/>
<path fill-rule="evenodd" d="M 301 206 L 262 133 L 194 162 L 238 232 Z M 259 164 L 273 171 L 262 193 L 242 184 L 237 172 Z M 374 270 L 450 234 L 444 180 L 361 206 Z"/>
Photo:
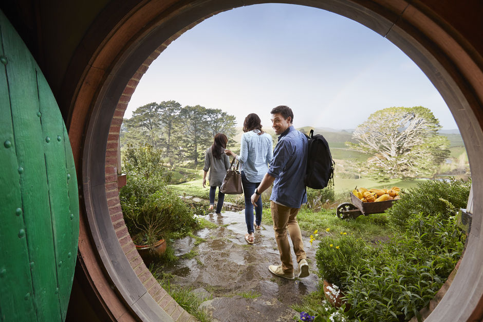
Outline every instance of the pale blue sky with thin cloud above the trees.
<path fill-rule="evenodd" d="M 253 5 L 219 13 L 183 33 L 147 70 L 125 117 L 176 100 L 235 115 L 288 105 L 295 127 L 354 129 L 377 110 L 422 105 L 443 129 L 448 106 L 418 66 L 365 26 L 321 9 Z"/>

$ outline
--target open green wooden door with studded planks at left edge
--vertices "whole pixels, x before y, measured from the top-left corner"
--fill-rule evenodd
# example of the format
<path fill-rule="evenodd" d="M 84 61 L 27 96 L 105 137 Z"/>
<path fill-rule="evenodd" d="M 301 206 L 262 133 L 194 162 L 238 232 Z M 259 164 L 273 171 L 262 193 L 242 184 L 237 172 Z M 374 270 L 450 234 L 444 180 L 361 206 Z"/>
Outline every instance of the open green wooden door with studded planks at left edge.
<path fill-rule="evenodd" d="M 0 11 L 0 318 L 65 320 L 79 196 L 62 115 Z"/>

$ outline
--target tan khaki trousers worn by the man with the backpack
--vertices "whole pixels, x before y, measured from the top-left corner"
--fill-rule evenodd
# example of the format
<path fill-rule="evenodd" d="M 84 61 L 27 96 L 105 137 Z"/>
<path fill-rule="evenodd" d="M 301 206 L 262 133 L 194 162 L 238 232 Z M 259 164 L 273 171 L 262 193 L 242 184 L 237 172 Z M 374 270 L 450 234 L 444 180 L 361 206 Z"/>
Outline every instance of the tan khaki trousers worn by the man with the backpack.
<path fill-rule="evenodd" d="M 297 262 L 306 258 L 304 251 L 304 243 L 300 232 L 299 223 L 297 222 L 297 213 L 300 208 L 290 208 L 270 202 L 270 210 L 272 213 L 273 230 L 275 230 L 275 240 L 280 252 L 280 260 L 282 261 L 282 269 L 285 273 L 293 272 L 292 254 L 290 252 L 290 244 L 287 238 L 287 230 L 293 244 L 293 251 L 297 257 Z"/>

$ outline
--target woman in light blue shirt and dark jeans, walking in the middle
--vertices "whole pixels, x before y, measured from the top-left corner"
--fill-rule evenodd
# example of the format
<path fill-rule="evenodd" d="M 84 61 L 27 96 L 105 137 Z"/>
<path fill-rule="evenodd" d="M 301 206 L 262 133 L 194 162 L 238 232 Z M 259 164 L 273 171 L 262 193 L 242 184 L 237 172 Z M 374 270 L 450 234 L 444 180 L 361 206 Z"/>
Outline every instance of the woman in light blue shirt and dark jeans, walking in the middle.
<path fill-rule="evenodd" d="M 273 146 L 272 136 L 262 131 L 261 120 L 254 113 L 248 114 L 245 118 L 243 132 L 245 133 L 242 135 L 240 155 L 236 155 L 230 150 L 225 150 L 225 153 L 236 157 L 240 162 L 243 194 L 245 195 L 245 221 L 248 229 L 245 240 L 249 244 L 253 244 L 253 226 L 260 229 L 262 224 L 262 198 L 259 198 L 256 203 L 255 223 L 253 223 L 253 205 L 250 198 L 268 171 L 268 165 L 273 156 Z"/>

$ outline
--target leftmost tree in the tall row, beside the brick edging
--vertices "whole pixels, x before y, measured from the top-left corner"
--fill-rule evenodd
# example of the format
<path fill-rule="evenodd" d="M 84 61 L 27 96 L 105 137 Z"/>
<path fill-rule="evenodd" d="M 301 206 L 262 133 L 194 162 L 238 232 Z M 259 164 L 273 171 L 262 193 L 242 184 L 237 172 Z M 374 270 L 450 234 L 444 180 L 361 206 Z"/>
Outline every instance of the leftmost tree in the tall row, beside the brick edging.
<path fill-rule="evenodd" d="M 130 135 L 126 134 L 126 138 L 134 140 L 142 139 L 147 136 L 147 143 L 156 149 L 162 146 L 162 124 L 159 114 L 159 105 L 155 102 L 140 106 L 133 112 L 131 118 L 125 119 L 125 128 Z"/>

